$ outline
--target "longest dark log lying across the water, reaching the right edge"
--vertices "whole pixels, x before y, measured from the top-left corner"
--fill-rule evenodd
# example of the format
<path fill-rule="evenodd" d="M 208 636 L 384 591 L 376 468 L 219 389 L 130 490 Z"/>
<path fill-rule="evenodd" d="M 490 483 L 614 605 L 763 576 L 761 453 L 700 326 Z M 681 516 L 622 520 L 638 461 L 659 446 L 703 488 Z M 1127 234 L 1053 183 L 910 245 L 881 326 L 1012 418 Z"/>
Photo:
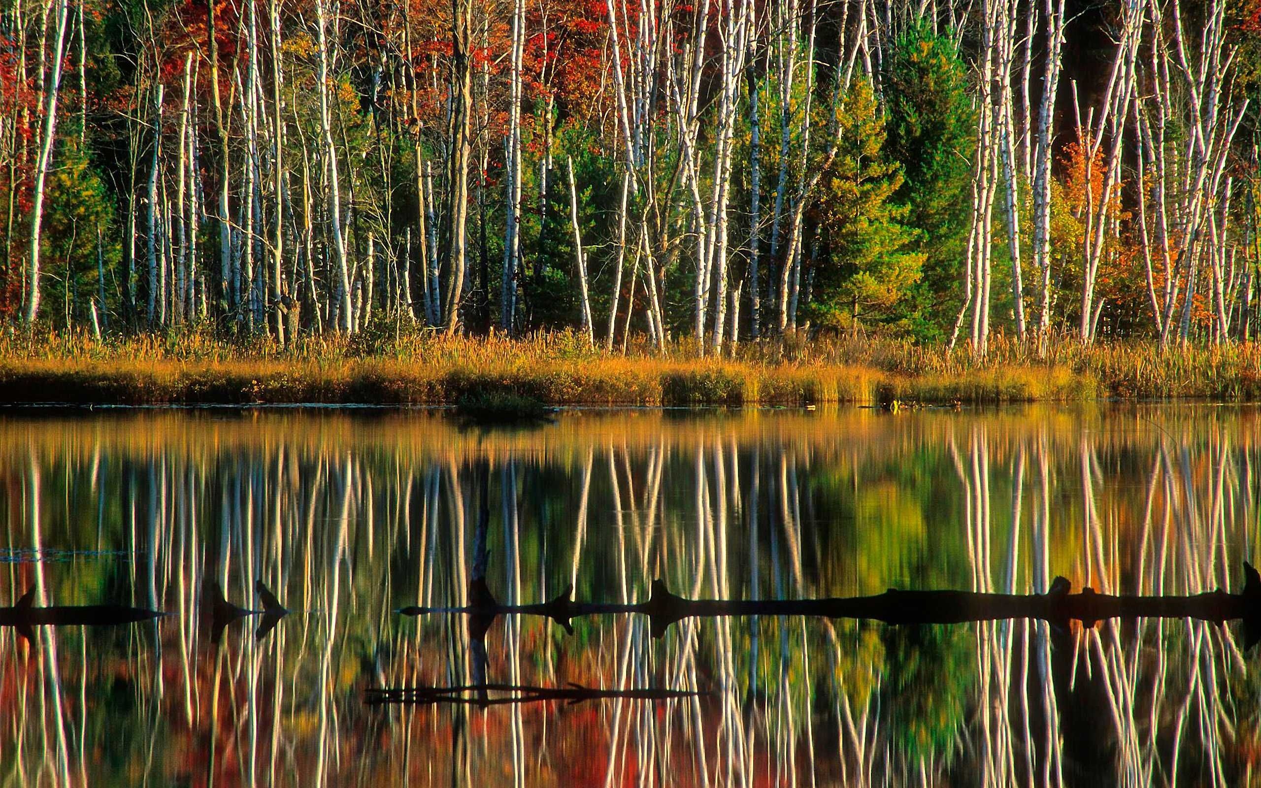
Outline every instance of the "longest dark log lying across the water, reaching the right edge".
<path fill-rule="evenodd" d="M 571 619 L 581 615 L 641 613 L 652 619 L 653 637 L 662 637 L 671 624 L 685 618 L 725 615 L 811 615 L 852 618 L 889 624 L 961 624 L 999 619 L 1040 619 L 1066 627 L 1069 620 L 1093 627 L 1110 618 L 1194 618 L 1206 622 L 1243 622 L 1245 648 L 1261 640 L 1261 576 L 1243 564 L 1240 594 L 1207 591 L 1190 596 L 1127 596 L 1098 594 L 1086 588 L 1069 594 L 1069 582 L 1055 577 L 1045 594 L 980 594 L 975 591 L 900 591 L 889 589 L 875 596 L 793 600 L 686 599 L 654 580 L 648 601 L 638 604 L 576 603 L 566 588 L 551 601 L 504 605 L 494 600 L 484 580 L 470 590 L 470 604 L 462 608 L 402 608 L 404 615 L 458 613 L 472 617 L 470 628 L 485 633 L 498 615 L 542 615 L 572 633 Z"/>

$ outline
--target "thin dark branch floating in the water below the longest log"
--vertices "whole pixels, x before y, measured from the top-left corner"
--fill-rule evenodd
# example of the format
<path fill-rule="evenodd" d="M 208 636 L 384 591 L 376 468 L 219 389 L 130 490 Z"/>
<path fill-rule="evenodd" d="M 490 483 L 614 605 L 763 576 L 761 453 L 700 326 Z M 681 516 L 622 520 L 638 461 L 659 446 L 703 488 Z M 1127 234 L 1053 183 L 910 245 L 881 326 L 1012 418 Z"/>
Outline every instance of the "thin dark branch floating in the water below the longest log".
<path fill-rule="evenodd" d="M 467 693 L 475 693 L 467 697 Z M 506 697 L 489 697 L 491 692 L 511 693 Z M 532 687 L 527 685 L 474 683 L 453 687 L 381 687 L 369 688 L 369 704 L 412 704 L 436 705 L 453 704 L 467 706 L 504 706 L 511 704 L 537 704 L 545 701 L 566 701 L 570 705 L 591 700 L 627 698 L 637 701 L 670 701 L 696 697 L 704 692 L 692 690 L 600 690 L 570 683 L 566 687 Z"/>

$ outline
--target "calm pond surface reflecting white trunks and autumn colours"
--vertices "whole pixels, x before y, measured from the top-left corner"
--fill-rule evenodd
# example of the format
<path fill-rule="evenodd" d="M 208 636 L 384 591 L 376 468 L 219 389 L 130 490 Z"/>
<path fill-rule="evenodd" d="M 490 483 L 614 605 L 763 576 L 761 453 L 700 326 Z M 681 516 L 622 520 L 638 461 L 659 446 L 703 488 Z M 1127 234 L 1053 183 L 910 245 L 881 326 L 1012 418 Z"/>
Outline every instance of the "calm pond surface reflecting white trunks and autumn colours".
<path fill-rule="evenodd" d="M 0 416 L 0 604 L 170 611 L 0 629 L 0 785 L 1261 784 L 1237 625 L 890 627 L 454 614 L 677 594 L 1237 590 L 1261 411 L 579 411 Z M 293 613 L 212 643 L 202 589 Z M 512 691 L 371 705 L 372 687 Z M 501 701 L 525 702 L 501 702 Z M 478 701 L 493 701 L 480 704 Z"/>

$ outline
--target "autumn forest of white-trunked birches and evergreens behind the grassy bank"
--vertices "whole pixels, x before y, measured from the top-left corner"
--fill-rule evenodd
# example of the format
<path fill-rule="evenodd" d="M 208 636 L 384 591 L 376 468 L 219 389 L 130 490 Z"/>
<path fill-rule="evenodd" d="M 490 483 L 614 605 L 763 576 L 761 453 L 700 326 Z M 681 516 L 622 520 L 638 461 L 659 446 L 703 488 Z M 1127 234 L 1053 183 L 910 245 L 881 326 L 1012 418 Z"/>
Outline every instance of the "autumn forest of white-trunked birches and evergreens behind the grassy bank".
<path fill-rule="evenodd" d="M 1257 0 L 3 0 L 0 315 L 1261 329 Z"/>

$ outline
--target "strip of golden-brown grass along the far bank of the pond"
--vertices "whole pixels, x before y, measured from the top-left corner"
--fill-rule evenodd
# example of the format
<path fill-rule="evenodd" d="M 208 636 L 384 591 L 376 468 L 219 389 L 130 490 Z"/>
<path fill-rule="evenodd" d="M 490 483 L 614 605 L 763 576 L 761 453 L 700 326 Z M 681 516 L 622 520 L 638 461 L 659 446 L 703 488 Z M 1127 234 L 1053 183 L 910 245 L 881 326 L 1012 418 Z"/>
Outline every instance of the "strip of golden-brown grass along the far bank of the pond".
<path fill-rule="evenodd" d="M 1079 401 L 1098 397 L 1261 400 L 1261 345 L 1150 344 L 1037 349 L 996 338 L 965 349 L 892 340 L 741 344 L 701 357 L 680 343 L 604 353 L 572 333 L 525 339 L 415 332 L 265 339 L 206 333 L 102 342 L 84 334 L 0 334 L 0 402 L 451 405 L 479 392 L 551 405 L 811 405 Z"/>

